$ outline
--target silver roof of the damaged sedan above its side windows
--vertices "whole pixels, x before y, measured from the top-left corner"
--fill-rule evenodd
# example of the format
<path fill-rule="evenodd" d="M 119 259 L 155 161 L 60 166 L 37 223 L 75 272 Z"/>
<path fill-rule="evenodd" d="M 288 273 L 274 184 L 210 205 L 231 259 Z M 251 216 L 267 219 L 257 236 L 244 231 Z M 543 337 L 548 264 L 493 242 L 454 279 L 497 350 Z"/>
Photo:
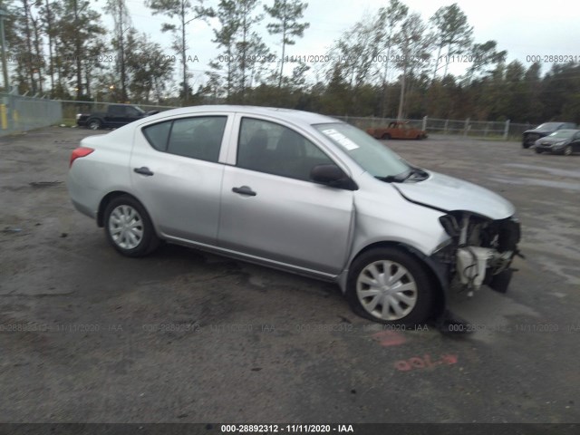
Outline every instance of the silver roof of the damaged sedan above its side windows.
<path fill-rule="evenodd" d="M 295 121 L 296 123 L 318 124 L 325 122 L 342 122 L 331 118 L 329 116 L 313 113 L 310 111 L 296 111 L 294 109 L 283 109 L 278 107 L 261 107 L 261 106 L 244 106 L 244 105 L 229 105 L 229 104 L 215 104 L 215 105 L 201 105 L 189 106 L 179 109 L 172 109 L 170 111 L 161 111 L 153 117 L 167 117 L 179 116 L 188 114 L 203 113 L 205 111 L 223 111 L 229 113 L 244 113 L 247 115 L 266 115 L 275 118 L 280 118 L 287 121 Z"/>

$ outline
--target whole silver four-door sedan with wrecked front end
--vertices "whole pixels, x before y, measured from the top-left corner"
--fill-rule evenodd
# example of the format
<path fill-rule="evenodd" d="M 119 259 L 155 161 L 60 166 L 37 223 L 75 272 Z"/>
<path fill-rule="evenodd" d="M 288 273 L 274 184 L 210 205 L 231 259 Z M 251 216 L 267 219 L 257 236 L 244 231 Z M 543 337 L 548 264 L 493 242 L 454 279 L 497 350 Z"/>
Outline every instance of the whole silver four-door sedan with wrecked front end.
<path fill-rule="evenodd" d="M 164 111 L 82 140 L 67 185 L 122 255 L 165 240 L 331 280 L 385 324 L 440 315 L 451 288 L 505 291 L 519 241 L 504 198 L 304 111 Z"/>

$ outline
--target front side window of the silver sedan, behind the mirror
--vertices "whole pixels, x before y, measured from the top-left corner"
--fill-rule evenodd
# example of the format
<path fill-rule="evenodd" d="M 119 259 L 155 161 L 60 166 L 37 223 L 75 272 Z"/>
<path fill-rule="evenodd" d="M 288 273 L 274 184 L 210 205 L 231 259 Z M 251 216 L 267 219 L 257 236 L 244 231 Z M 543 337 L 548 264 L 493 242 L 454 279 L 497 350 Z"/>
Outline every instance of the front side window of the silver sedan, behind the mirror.
<path fill-rule="evenodd" d="M 316 165 L 333 161 L 300 133 L 275 122 L 244 118 L 237 143 L 239 168 L 310 181 Z"/>

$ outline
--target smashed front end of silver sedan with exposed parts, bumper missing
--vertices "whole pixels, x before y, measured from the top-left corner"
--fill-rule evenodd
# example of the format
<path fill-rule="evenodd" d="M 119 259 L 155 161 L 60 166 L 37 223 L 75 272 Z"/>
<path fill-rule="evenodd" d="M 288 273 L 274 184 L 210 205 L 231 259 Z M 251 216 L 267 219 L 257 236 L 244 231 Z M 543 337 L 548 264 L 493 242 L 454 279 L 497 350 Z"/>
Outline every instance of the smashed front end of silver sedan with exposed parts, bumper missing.
<path fill-rule="evenodd" d="M 449 235 L 433 259 L 447 266 L 449 289 L 473 295 L 481 285 L 507 291 L 514 269 L 520 225 L 517 218 L 491 219 L 469 211 L 451 211 L 440 217 Z"/>

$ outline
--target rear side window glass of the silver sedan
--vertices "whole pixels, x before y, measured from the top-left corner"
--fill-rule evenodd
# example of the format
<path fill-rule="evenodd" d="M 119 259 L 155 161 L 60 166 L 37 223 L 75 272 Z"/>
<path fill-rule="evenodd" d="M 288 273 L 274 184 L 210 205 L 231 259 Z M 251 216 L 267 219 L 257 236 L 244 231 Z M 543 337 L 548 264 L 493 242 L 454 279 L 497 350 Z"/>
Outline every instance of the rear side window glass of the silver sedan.
<path fill-rule="evenodd" d="M 155 150 L 217 162 L 226 121 L 226 116 L 182 118 L 145 127 L 143 134 Z"/>

